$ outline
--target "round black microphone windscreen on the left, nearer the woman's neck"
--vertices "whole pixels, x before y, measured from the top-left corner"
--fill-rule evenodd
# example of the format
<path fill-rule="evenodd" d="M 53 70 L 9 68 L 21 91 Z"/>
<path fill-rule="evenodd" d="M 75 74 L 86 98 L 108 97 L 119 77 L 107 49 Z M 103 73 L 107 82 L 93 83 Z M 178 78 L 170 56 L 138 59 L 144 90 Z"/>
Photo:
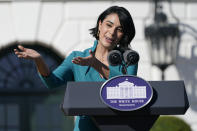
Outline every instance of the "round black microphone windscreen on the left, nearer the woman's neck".
<path fill-rule="evenodd" d="M 109 52 L 107 60 L 112 66 L 120 65 L 122 63 L 122 54 L 118 50 L 112 50 Z"/>

